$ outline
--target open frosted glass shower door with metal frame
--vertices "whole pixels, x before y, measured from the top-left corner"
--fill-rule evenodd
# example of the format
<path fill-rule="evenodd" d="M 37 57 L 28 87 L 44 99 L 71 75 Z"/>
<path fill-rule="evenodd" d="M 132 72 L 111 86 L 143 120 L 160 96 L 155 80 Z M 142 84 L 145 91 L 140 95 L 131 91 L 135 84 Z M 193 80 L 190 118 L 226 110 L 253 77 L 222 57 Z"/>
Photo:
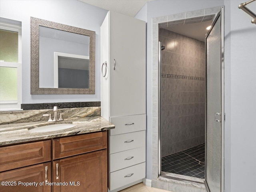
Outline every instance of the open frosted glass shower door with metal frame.
<path fill-rule="evenodd" d="M 222 12 L 206 36 L 206 175 L 208 192 L 221 192 Z"/>

